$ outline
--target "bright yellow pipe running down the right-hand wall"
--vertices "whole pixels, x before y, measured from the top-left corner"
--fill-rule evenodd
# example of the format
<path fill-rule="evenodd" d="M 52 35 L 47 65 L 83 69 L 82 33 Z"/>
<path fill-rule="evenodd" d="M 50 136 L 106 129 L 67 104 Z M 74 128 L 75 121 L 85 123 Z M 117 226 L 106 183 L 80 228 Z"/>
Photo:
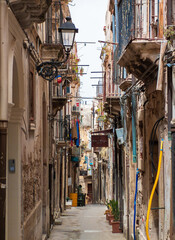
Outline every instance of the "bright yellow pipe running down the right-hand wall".
<path fill-rule="evenodd" d="M 150 240 L 149 232 L 148 232 L 149 214 L 150 214 L 151 204 L 152 204 L 152 200 L 153 200 L 153 195 L 154 195 L 154 192 L 155 192 L 158 180 L 159 180 L 160 167 L 161 167 L 161 162 L 162 162 L 162 154 L 163 154 L 163 139 L 161 140 L 161 145 L 160 145 L 159 164 L 158 164 L 158 169 L 157 169 L 156 180 L 154 182 L 154 186 L 152 188 L 151 196 L 149 199 L 148 211 L 147 211 L 147 217 L 146 217 L 146 236 L 147 236 L 148 240 Z"/>

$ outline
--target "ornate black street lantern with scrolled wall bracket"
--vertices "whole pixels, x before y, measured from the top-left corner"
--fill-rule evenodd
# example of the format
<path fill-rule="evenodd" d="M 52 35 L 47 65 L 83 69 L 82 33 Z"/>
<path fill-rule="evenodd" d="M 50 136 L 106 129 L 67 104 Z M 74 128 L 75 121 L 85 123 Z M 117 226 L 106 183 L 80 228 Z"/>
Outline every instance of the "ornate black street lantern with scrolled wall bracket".
<path fill-rule="evenodd" d="M 60 28 L 58 28 L 58 31 L 61 33 L 61 41 L 65 50 L 65 59 L 62 62 L 57 60 L 43 62 L 36 67 L 39 76 L 42 76 L 48 81 L 52 81 L 57 77 L 58 67 L 68 60 L 70 51 L 73 48 L 75 34 L 78 32 L 78 29 L 75 28 L 75 25 L 71 22 L 71 18 L 67 17 L 66 20 L 67 22 L 63 23 Z"/>

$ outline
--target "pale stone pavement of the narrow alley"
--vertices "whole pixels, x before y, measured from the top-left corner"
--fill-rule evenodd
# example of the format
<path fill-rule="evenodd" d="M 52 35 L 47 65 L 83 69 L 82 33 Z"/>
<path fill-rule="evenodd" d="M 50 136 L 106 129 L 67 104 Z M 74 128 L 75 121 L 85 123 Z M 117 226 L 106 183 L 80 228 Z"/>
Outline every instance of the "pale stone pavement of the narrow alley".
<path fill-rule="evenodd" d="M 112 233 L 106 220 L 104 205 L 72 207 L 61 216 L 62 225 L 55 225 L 48 240 L 125 240 L 123 234 Z"/>

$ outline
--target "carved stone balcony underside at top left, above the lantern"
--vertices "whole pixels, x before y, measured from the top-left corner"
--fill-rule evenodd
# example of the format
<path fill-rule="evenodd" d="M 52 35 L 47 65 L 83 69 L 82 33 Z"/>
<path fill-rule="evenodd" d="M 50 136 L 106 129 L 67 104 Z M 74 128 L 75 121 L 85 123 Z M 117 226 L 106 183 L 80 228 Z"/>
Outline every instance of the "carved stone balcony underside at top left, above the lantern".
<path fill-rule="evenodd" d="M 9 0 L 9 6 L 22 28 L 29 28 L 33 22 L 45 21 L 45 14 L 51 5 L 51 0 Z"/>

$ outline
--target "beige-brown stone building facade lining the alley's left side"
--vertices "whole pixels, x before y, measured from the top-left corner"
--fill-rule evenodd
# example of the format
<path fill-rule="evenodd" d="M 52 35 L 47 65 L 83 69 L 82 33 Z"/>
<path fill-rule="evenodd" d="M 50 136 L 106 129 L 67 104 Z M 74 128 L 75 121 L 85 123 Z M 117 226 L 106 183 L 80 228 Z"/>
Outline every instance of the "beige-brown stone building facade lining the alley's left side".
<path fill-rule="evenodd" d="M 36 69 L 57 58 L 54 54 L 64 57 L 54 28 L 60 26 L 60 16 L 70 16 L 67 1 L 0 1 L 1 240 L 47 239 L 65 209 L 71 146 L 65 139 L 61 146 L 56 141 L 58 118 L 53 115 L 71 115 L 66 87 L 72 70 L 68 65 L 70 84 L 68 77 L 62 82 L 64 96 L 56 96 L 55 108 L 54 84 Z M 67 118 L 64 123 L 68 131 Z"/>

